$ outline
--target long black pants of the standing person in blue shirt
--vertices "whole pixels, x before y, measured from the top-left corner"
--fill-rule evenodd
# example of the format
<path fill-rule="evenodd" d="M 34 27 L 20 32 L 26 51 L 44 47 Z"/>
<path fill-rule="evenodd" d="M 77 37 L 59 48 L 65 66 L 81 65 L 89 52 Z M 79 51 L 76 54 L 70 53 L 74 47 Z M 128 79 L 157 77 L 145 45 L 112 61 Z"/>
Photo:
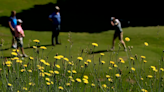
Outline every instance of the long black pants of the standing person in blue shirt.
<path fill-rule="evenodd" d="M 60 25 L 53 25 L 53 30 L 52 30 L 52 44 L 54 44 L 54 37 L 55 37 L 55 42 L 58 44 L 58 36 L 60 32 Z"/>

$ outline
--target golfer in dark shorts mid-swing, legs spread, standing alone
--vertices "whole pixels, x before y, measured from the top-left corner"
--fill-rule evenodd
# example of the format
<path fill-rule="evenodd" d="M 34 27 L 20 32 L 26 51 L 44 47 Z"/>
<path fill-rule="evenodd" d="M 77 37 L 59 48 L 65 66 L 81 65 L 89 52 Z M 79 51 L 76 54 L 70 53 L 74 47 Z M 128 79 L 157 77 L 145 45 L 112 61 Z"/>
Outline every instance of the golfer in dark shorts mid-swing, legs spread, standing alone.
<path fill-rule="evenodd" d="M 121 28 L 120 21 L 118 19 L 116 19 L 115 17 L 111 17 L 111 25 L 115 27 L 115 33 L 114 33 L 113 40 L 112 40 L 112 48 L 111 48 L 111 50 L 112 51 L 114 50 L 115 39 L 118 37 L 120 42 L 121 42 L 121 44 L 124 47 L 124 50 L 127 51 L 125 42 L 123 40 L 123 31 L 122 31 L 122 28 Z"/>

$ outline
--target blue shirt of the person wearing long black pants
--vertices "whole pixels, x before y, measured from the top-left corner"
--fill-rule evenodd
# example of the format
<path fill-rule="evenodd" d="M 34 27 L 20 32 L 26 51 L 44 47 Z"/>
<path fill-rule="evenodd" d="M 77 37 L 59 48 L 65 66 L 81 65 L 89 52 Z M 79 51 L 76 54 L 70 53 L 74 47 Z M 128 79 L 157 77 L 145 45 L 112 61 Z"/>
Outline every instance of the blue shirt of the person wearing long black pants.
<path fill-rule="evenodd" d="M 49 18 L 52 19 L 54 25 L 60 25 L 60 13 L 56 14 L 56 12 L 53 12 L 51 15 L 49 15 Z"/>

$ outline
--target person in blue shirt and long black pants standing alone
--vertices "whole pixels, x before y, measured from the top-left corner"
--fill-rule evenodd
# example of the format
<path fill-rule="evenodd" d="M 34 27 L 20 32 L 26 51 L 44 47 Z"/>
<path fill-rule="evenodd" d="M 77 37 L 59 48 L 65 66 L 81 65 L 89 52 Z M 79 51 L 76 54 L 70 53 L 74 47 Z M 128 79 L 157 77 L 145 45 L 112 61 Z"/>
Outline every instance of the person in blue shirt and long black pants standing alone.
<path fill-rule="evenodd" d="M 53 28 L 52 28 L 52 45 L 55 46 L 54 44 L 54 37 L 56 44 L 61 44 L 58 42 L 58 36 L 59 36 L 59 31 L 60 31 L 60 23 L 61 23 L 61 18 L 60 18 L 60 8 L 58 6 L 55 7 L 55 12 L 53 12 L 51 15 L 49 15 L 49 20 L 52 21 L 53 23 Z"/>

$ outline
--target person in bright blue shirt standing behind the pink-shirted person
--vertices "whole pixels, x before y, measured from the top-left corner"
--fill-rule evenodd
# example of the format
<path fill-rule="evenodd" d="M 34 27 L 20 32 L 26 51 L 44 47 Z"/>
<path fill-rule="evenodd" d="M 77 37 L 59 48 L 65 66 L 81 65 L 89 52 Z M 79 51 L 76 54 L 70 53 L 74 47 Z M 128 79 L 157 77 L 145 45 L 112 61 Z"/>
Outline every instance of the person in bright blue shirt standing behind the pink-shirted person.
<path fill-rule="evenodd" d="M 11 16 L 8 20 L 8 25 L 10 27 L 10 31 L 12 34 L 12 45 L 11 48 L 16 48 L 16 42 L 15 42 L 15 27 L 17 25 L 17 18 L 16 18 L 16 11 L 11 11 Z"/>

